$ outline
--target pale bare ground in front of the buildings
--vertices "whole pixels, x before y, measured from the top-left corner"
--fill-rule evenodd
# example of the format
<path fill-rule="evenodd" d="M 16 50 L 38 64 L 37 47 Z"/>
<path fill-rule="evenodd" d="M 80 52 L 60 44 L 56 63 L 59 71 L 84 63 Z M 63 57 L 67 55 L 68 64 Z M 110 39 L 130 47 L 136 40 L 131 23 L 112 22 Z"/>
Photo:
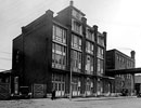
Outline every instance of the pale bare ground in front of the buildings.
<path fill-rule="evenodd" d="M 0 100 L 0 108 L 141 108 L 141 98 L 137 97 L 89 97 L 89 98 L 50 98 Z"/>

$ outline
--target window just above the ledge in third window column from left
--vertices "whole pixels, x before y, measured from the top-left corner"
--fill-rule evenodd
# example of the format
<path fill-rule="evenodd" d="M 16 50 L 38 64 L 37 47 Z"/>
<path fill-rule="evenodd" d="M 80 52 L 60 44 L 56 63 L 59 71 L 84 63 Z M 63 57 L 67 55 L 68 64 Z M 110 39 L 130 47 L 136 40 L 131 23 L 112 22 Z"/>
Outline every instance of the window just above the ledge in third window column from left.
<path fill-rule="evenodd" d="M 93 57 L 90 55 L 86 57 L 86 73 L 93 75 Z"/>

